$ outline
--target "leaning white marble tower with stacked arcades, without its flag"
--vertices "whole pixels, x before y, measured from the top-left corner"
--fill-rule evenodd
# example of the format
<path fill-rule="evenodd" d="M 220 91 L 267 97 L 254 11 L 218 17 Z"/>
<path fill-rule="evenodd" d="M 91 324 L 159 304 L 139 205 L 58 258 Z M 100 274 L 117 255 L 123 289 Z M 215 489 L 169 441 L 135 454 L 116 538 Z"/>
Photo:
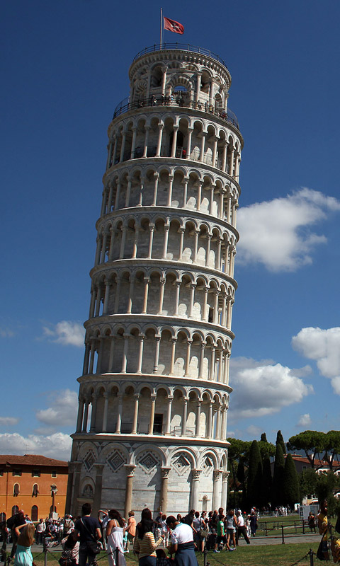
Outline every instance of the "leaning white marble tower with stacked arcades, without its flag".
<path fill-rule="evenodd" d="M 137 54 L 108 127 L 67 511 L 227 504 L 243 141 L 231 77 L 191 45 Z"/>

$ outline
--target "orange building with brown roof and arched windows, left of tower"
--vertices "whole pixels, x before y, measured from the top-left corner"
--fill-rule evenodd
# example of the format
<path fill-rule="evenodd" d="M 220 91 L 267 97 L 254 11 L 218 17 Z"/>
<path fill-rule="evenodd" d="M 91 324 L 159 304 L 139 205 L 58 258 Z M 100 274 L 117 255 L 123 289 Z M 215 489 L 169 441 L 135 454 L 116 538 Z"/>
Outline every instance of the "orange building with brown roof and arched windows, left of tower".
<path fill-rule="evenodd" d="M 6 519 L 23 509 L 32 521 L 54 511 L 64 516 L 68 463 L 35 454 L 0 455 L 0 517 Z"/>

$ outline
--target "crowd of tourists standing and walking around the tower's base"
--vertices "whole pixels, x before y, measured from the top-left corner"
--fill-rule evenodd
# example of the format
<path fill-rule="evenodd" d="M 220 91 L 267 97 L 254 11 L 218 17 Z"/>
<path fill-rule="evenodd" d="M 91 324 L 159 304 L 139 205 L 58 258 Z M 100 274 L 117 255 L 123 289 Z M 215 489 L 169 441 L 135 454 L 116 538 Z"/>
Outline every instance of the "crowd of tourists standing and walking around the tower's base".
<path fill-rule="evenodd" d="M 251 509 L 249 515 L 240 509 L 222 507 L 218 511 L 198 512 L 195 509 L 186 516 L 166 516 L 160 511 L 152 517 L 150 509 L 142 510 L 140 521 L 130 511 L 127 520 L 116 509 L 101 509 L 98 518 L 91 516 L 91 504 L 82 506 L 81 516 L 64 516 L 60 520 L 40 519 L 33 524 L 28 515 L 19 511 L 1 524 L 5 553 L 9 536 L 13 543 L 10 562 L 14 566 L 33 566 L 31 546 L 37 544 L 62 545 L 60 566 L 96 566 L 96 555 L 101 550 L 108 554 L 109 566 L 126 566 L 126 553 L 133 552 L 139 566 L 198 566 L 196 553 L 212 550 L 232 552 L 237 549 L 239 539 L 250 544 L 256 536 L 258 512 Z M 340 519 L 338 519 L 339 523 Z M 310 514 L 310 528 L 316 524 L 322 541 L 318 550 L 320 560 L 329 560 L 329 525 L 327 502 L 322 502 L 317 517 Z M 336 524 L 336 531 L 340 523 Z M 340 539 L 331 537 L 331 555 L 340 562 Z"/>

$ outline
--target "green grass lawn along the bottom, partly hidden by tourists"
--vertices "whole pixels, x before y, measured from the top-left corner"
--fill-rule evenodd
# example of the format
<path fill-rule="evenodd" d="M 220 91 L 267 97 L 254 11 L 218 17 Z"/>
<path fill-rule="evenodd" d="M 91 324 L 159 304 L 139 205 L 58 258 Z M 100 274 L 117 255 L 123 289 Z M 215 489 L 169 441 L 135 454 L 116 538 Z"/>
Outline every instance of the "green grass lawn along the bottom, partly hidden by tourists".
<path fill-rule="evenodd" d="M 215 554 L 208 553 L 207 561 L 210 566 L 293 566 L 295 562 L 300 561 L 301 566 L 310 565 L 310 556 L 307 555 L 310 548 L 317 552 L 319 540 L 315 543 L 302 543 L 302 544 L 278 544 L 278 545 L 244 545 L 239 546 L 233 553 L 222 552 Z M 305 555 L 304 560 L 300 560 Z M 37 566 L 44 565 L 44 556 L 33 554 L 35 564 Z M 49 566 L 57 566 L 60 553 L 48 553 L 47 563 Z M 197 555 L 198 565 L 203 566 L 203 555 Z M 137 566 L 137 558 L 130 553 L 126 556 L 127 566 Z M 317 558 L 314 556 L 314 564 L 317 563 Z M 98 566 L 108 566 L 108 559 L 106 553 L 101 553 L 98 556 Z"/>

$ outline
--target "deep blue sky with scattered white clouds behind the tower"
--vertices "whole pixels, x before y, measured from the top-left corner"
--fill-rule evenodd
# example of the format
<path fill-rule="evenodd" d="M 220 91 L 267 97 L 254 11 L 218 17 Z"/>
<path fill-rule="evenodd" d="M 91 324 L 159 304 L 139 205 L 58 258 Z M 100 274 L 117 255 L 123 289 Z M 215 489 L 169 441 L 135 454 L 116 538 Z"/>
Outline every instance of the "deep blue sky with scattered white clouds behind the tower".
<path fill-rule="evenodd" d="M 155 1 L 5 0 L 0 451 L 69 457 L 106 131 Z M 163 5 L 225 59 L 244 136 L 228 434 L 340 428 L 336 1 Z"/>

